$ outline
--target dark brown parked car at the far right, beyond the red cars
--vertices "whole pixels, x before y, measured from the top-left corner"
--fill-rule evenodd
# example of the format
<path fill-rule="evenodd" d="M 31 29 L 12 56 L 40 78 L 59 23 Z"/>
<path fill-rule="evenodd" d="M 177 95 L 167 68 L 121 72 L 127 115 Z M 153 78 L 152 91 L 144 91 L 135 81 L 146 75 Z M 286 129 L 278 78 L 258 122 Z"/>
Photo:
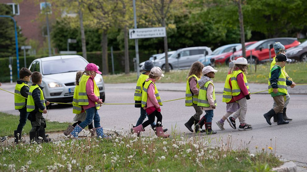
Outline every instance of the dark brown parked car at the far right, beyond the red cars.
<path fill-rule="evenodd" d="M 286 55 L 294 61 L 307 62 L 307 40 L 296 47 L 289 48 Z"/>

